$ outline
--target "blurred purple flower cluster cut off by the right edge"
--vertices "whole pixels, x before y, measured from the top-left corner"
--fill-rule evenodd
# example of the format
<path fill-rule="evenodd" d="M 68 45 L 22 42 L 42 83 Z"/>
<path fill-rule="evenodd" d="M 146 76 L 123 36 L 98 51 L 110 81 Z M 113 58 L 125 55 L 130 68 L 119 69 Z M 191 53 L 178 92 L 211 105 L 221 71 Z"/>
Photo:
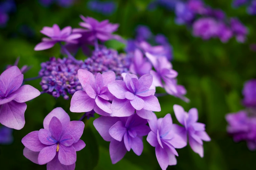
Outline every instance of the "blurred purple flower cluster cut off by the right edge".
<path fill-rule="evenodd" d="M 227 132 L 235 142 L 246 141 L 250 150 L 256 150 L 256 79 L 247 81 L 244 85 L 242 101 L 246 107 L 237 113 L 226 115 Z"/>

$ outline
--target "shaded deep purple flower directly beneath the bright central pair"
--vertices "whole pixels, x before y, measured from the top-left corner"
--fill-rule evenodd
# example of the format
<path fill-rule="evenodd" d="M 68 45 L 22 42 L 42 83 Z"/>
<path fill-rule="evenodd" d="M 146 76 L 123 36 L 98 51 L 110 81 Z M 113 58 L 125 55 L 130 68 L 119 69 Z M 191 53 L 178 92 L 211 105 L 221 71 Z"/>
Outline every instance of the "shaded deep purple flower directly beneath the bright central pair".
<path fill-rule="evenodd" d="M 142 137 L 150 131 L 147 120 L 136 114 L 129 117 L 105 117 L 94 120 L 94 127 L 104 140 L 110 141 L 112 163 L 117 163 L 132 149 L 136 155 L 143 151 Z"/>

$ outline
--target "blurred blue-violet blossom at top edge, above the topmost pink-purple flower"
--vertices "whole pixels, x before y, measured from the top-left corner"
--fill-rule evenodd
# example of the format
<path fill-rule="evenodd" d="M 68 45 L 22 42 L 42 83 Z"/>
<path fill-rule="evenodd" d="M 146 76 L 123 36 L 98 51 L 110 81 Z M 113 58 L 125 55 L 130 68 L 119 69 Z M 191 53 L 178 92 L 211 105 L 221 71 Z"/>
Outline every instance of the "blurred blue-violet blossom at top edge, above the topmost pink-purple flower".
<path fill-rule="evenodd" d="M 116 11 L 116 3 L 113 1 L 91 0 L 87 2 L 87 8 L 103 15 L 112 15 Z"/>

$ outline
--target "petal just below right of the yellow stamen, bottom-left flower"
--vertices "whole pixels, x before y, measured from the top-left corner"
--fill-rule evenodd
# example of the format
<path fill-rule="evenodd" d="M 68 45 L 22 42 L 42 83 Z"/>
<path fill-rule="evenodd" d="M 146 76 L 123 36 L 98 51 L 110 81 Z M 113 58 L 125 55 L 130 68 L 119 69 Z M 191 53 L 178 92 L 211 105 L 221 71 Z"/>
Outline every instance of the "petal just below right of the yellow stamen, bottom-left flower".
<path fill-rule="evenodd" d="M 72 165 L 77 161 L 76 149 L 73 146 L 65 147 L 60 145 L 59 160 L 63 165 Z"/>

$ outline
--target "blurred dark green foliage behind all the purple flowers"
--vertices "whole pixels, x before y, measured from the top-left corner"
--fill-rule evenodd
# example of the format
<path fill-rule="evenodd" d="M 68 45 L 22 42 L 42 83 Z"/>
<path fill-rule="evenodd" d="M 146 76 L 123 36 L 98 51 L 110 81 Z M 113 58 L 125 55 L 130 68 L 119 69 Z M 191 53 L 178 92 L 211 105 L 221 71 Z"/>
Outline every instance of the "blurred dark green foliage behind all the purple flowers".
<path fill-rule="evenodd" d="M 233 9 L 231 0 L 207 0 L 206 4 L 223 9 L 228 16 L 238 17 L 249 29 L 247 42 L 239 44 L 235 38 L 223 44 L 218 39 L 203 41 L 195 38 L 186 26 L 178 26 L 174 22 L 174 14 L 158 8 L 155 11 L 146 9 L 149 0 L 117 0 L 118 9 L 110 17 L 94 13 L 87 9 L 86 1 L 78 2 L 70 8 L 53 5 L 42 7 L 37 1 L 16 1 L 17 11 L 10 15 L 6 28 L 0 30 L 0 69 L 7 64 L 13 64 L 20 56 L 19 67 L 24 64 L 32 65 L 32 69 L 25 74 L 25 78 L 36 77 L 40 70 L 40 63 L 49 57 L 60 56 L 60 48 L 56 45 L 50 50 L 34 51 L 43 35 L 39 32 L 43 26 L 54 23 L 61 28 L 71 25 L 78 27 L 81 21 L 79 15 L 91 16 L 98 20 L 109 19 L 119 23 L 118 34 L 125 38 L 134 37 L 134 29 L 138 24 L 148 25 L 154 34 L 166 35 L 174 49 L 172 62 L 179 72 L 178 81 L 187 89 L 190 103 L 185 103 L 172 96 L 160 97 L 162 111 L 156 113 L 163 117 L 171 113 L 174 122 L 177 120 L 172 106 L 179 104 L 186 111 L 196 107 L 199 111 L 199 121 L 206 124 L 206 131 L 212 138 L 204 143 L 205 156 L 203 159 L 194 153 L 190 147 L 177 149 L 179 157 L 176 166 L 168 169 L 179 170 L 250 170 L 256 168 L 256 153 L 247 149 L 246 143 L 234 143 L 226 133 L 227 123 L 225 114 L 243 109 L 241 91 L 246 80 L 255 78 L 255 53 L 249 50 L 249 44 L 255 41 L 255 16 L 249 16 L 245 8 Z M 19 32 L 21 25 L 26 24 L 35 30 L 35 36 L 28 38 Z M 116 42 L 109 42 L 108 46 L 120 50 L 122 46 Z M 81 51 L 78 58 L 84 59 Z M 40 80 L 26 82 L 40 91 Z M 162 92 L 159 90 L 159 92 Z M 20 130 L 14 130 L 14 142 L 8 146 L 0 146 L 1 170 L 43 170 L 46 165 L 37 165 L 23 156 L 21 139 L 31 131 L 43 128 L 44 117 L 55 107 L 62 107 L 72 120 L 78 120 L 82 113 L 69 111 L 70 100 L 62 97 L 55 99 L 48 94 L 42 94 L 36 99 L 26 102 L 26 124 Z M 76 170 L 160 170 L 156 160 L 154 148 L 145 140 L 141 156 L 128 152 L 123 160 L 111 164 L 109 156 L 109 142 L 104 141 L 93 127 L 94 119 L 85 122 L 82 139 L 86 147 L 77 152 Z M 145 138 L 144 138 L 145 139 Z"/>

